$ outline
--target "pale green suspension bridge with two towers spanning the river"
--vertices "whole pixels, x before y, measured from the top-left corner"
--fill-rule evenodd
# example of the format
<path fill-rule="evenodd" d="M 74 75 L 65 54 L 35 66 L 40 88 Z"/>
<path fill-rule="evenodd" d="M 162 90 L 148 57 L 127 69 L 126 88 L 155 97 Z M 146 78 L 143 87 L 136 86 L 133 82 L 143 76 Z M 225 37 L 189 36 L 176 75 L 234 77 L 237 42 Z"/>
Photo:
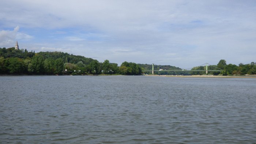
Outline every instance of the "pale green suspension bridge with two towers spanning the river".
<path fill-rule="evenodd" d="M 155 70 L 154 67 L 160 67 L 160 68 L 163 68 L 163 69 L 159 69 L 159 70 Z M 142 71 L 142 72 L 152 72 L 152 74 L 154 74 L 155 72 L 159 72 L 159 71 L 185 71 L 185 72 L 202 72 L 202 71 L 205 71 L 206 74 L 208 74 L 208 72 L 221 72 L 223 71 L 223 69 L 220 69 L 220 68 L 217 68 L 215 67 L 215 65 L 211 65 L 211 64 L 208 64 L 208 63 L 205 63 L 205 64 L 202 64 L 202 65 L 199 65 L 197 67 L 201 67 L 201 66 L 206 66 L 206 69 L 203 69 L 203 70 L 191 70 L 192 68 L 187 68 L 187 69 L 170 69 L 170 68 L 166 68 L 166 67 L 162 67 L 161 65 L 156 65 L 156 64 L 152 64 L 152 70 L 145 70 L 145 71 Z M 208 66 L 211 66 L 211 68 L 214 68 L 214 69 L 208 69 Z"/>

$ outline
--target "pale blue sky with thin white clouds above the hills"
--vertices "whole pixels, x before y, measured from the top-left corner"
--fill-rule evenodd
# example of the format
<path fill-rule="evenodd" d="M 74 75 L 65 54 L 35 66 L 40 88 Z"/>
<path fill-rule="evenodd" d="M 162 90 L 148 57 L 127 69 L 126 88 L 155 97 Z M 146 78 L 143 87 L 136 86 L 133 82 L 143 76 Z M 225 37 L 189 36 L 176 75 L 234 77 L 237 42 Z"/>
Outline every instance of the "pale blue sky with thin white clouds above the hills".
<path fill-rule="evenodd" d="M 256 62 L 256 0 L 0 0 L 0 48 L 192 68 Z"/>

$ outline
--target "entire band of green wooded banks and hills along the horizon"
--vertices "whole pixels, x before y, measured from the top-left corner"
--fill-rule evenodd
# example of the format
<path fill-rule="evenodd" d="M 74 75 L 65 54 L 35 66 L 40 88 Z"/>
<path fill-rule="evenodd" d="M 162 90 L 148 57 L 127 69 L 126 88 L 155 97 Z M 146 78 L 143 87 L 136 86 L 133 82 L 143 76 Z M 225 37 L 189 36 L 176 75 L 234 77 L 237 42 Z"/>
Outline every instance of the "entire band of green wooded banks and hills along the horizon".
<path fill-rule="evenodd" d="M 221 72 L 208 72 L 211 75 L 255 75 L 256 63 L 226 64 L 220 60 L 217 65 L 208 66 L 208 70 Z M 205 72 L 189 71 L 159 71 L 159 70 L 182 70 L 170 65 L 154 65 L 157 75 L 204 75 Z M 206 70 L 206 66 L 194 67 L 192 70 Z M 120 67 L 109 60 L 98 62 L 92 58 L 76 56 L 63 52 L 29 52 L 26 49 L 0 48 L 0 74 L 1 75 L 141 75 L 142 71 L 152 71 L 151 64 L 136 64 L 123 62 Z M 151 74 L 151 72 L 143 72 Z"/>

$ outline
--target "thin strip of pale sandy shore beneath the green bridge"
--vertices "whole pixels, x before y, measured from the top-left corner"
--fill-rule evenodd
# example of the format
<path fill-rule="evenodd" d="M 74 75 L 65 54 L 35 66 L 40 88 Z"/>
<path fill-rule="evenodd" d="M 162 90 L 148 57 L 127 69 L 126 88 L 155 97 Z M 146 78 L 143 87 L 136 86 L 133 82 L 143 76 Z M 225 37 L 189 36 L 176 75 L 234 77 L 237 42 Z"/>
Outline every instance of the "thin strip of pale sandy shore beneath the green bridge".
<path fill-rule="evenodd" d="M 192 76 L 181 76 L 181 75 L 147 75 L 147 76 L 165 76 L 165 77 L 216 77 L 216 78 L 256 78 L 256 75 L 246 75 L 246 76 L 214 76 L 214 75 L 192 75 Z"/>

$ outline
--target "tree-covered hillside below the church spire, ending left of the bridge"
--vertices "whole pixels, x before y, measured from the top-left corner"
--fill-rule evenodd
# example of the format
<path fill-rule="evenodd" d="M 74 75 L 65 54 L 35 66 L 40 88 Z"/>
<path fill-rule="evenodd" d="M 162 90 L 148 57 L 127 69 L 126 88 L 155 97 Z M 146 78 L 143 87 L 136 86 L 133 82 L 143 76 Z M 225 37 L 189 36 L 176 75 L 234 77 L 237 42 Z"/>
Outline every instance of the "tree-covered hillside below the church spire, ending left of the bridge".
<path fill-rule="evenodd" d="M 140 75 L 142 69 L 133 62 L 120 67 L 109 60 L 98 62 L 92 58 L 63 52 L 28 52 L 26 49 L 0 48 L 0 74 L 18 75 Z"/>

